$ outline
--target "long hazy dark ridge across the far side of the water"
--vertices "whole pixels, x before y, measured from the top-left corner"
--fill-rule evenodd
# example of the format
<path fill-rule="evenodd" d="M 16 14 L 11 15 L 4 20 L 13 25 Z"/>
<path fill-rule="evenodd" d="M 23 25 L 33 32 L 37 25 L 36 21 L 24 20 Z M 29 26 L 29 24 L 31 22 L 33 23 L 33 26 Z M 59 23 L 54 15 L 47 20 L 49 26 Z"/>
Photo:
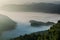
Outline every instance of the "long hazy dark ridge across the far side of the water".
<path fill-rule="evenodd" d="M 26 12 L 49 12 L 49 13 L 60 13 L 60 4 L 53 3 L 32 3 L 32 4 L 10 4 L 5 5 L 1 9 L 7 11 L 26 11 Z"/>

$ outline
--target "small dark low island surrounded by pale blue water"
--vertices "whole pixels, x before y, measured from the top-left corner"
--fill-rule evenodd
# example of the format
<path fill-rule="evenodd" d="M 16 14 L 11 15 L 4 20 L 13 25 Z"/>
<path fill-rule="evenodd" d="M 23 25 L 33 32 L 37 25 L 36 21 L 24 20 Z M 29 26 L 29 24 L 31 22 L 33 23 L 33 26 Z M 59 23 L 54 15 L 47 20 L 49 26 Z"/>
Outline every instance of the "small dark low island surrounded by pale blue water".
<path fill-rule="evenodd" d="M 29 22 L 31 23 L 31 26 L 34 26 L 34 27 L 49 26 L 49 25 L 55 24 L 54 22 L 39 22 L 39 21 L 35 21 L 35 20 L 30 20 Z"/>

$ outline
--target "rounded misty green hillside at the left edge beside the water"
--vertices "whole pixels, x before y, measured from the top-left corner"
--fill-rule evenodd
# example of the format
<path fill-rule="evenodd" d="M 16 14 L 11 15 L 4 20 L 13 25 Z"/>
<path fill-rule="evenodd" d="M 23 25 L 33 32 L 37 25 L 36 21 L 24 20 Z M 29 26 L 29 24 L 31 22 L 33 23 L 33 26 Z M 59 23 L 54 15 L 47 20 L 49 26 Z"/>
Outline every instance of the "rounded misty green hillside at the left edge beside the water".
<path fill-rule="evenodd" d="M 0 14 L 0 33 L 13 30 L 16 27 L 16 22 L 8 16 Z"/>

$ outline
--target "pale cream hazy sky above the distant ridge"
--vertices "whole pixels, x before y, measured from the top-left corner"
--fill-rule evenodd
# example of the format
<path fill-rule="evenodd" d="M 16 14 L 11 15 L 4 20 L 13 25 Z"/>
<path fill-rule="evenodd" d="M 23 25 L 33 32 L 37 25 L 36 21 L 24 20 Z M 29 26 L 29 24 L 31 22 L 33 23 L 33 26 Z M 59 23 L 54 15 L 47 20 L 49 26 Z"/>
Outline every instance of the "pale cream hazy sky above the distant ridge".
<path fill-rule="evenodd" d="M 0 6 L 3 4 L 23 4 L 23 3 L 32 3 L 32 2 L 52 2 L 60 0 L 0 0 Z"/>

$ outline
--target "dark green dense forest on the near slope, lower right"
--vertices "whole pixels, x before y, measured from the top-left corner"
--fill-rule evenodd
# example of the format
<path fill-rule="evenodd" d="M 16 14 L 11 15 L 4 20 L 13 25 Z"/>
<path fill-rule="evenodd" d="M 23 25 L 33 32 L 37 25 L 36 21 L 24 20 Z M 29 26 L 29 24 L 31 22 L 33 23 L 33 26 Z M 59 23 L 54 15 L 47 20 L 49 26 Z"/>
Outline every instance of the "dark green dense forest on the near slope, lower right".
<path fill-rule="evenodd" d="M 60 40 L 60 20 L 47 31 L 26 34 L 11 40 Z"/>

